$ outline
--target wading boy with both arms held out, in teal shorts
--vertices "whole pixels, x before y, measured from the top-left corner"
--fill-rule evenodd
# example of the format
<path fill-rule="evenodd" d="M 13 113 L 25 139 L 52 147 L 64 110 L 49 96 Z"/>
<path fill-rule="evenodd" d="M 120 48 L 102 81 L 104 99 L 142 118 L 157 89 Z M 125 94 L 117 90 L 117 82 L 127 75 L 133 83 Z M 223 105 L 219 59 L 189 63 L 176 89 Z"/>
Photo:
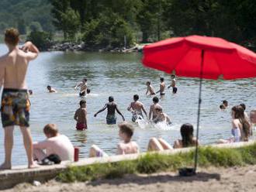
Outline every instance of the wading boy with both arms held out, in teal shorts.
<path fill-rule="evenodd" d="M 118 112 L 118 114 L 122 116 L 123 121 L 125 121 L 123 114 L 117 108 L 117 105 L 114 102 L 114 98 L 112 96 L 109 96 L 109 102 L 106 103 L 106 105 L 104 105 L 104 107 L 101 110 L 96 112 L 94 116 L 96 117 L 100 112 L 105 111 L 106 108 L 108 109 L 108 113 L 106 115 L 106 124 L 108 124 L 108 125 L 116 124 L 116 113 L 115 112 Z"/>

